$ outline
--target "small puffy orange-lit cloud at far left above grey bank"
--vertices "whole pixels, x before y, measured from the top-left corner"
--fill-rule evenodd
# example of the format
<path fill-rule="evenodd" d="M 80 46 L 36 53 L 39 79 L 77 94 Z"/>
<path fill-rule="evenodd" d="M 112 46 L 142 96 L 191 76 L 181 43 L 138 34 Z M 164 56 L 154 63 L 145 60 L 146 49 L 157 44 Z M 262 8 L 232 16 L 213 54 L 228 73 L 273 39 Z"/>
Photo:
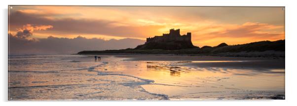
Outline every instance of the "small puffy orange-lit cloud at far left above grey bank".
<path fill-rule="evenodd" d="M 22 28 L 18 28 L 17 32 L 15 34 L 16 37 L 18 38 L 28 38 L 33 35 L 34 30 L 46 30 L 48 28 L 52 28 L 53 26 L 33 26 L 30 24 L 27 24 L 23 26 Z"/>

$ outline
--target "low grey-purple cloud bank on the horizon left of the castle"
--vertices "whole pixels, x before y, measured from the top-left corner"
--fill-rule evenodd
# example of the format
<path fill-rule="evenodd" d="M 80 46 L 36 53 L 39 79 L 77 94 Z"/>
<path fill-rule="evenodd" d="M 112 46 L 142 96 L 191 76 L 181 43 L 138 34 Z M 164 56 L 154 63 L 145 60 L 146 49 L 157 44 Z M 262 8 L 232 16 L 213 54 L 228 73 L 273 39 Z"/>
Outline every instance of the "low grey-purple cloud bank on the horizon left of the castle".
<path fill-rule="evenodd" d="M 103 40 L 84 37 L 25 39 L 8 34 L 9 54 L 77 53 L 84 50 L 117 50 L 135 48 L 145 41 L 139 39 Z"/>

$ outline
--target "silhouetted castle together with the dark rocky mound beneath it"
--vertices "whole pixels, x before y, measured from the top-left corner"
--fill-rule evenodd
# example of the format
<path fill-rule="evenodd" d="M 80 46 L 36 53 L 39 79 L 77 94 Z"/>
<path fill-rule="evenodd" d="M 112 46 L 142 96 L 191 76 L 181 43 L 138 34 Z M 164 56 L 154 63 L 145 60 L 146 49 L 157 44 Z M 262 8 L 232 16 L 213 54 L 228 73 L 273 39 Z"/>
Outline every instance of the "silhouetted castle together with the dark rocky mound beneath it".
<path fill-rule="evenodd" d="M 197 48 L 192 44 L 191 33 L 187 32 L 186 35 L 181 35 L 180 29 L 175 30 L 173 28 L 169 30 L 169 33 L 163 33 L 162 36 L 147 38 L 147 42 L 145 44 L 139 45 L 135 49 L 179 50 L 189 48 Z"/>

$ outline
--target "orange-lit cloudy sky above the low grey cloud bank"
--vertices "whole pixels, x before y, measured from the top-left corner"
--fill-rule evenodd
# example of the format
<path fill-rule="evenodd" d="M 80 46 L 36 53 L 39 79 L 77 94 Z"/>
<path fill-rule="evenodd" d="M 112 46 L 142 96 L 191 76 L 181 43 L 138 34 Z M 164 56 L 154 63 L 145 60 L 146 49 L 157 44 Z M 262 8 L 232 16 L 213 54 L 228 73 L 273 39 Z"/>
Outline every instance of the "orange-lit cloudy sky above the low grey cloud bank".
<path fill-rule="evenodd" d="M 284 39 L 282 8 L 15 6 L 9 22 L 10 29 L 26 24 L 54 26 L 35 32 L 33 37 L 39 38 L 84 35 L 145 39 L 181 28 L 181 34 L 192 32 L 192 42 L 200 47 Z"/>

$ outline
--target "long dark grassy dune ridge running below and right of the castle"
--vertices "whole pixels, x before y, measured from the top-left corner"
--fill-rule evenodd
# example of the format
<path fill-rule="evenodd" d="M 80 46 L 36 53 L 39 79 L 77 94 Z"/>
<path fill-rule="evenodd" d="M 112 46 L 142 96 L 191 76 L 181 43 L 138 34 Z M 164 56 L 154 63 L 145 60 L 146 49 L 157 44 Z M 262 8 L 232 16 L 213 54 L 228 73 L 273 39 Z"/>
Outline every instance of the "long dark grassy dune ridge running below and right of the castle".
<path fill-rule="evenodd" d="M 260 41 L 240 45 L 227 45 L 222 43 L 216 47 L 204 46 L 202 48 L 180 50 L 106 50 L 106 51 L 81 51 L 77 54 L 100 53 L 139 53 L 139 54 L 189 54 L 189 55 L 218 55 L 218 56 L 285 56 L 285 40 Z"/>

